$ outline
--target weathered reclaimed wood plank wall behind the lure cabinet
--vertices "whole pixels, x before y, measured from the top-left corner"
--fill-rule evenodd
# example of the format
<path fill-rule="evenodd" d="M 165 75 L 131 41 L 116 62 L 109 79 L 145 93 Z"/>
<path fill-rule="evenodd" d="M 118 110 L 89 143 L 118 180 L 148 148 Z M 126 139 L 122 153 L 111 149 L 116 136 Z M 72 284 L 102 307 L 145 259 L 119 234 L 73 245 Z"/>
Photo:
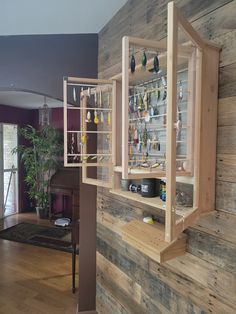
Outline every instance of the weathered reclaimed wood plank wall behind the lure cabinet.
<path fill-rule="evenodd" d="M 128 0 L 99 33 L 99 77 L 121 72 L 121 38 L 164 40 L 167 0 Z M 216 211 L 189 228 L 184 256 L 164 265 L 121 239 L 121 227 L 163 213 L 98 191 L 99 313 L 236 313 L 236 0 L 176 0 L 199 34 L 220 54 Z"/>

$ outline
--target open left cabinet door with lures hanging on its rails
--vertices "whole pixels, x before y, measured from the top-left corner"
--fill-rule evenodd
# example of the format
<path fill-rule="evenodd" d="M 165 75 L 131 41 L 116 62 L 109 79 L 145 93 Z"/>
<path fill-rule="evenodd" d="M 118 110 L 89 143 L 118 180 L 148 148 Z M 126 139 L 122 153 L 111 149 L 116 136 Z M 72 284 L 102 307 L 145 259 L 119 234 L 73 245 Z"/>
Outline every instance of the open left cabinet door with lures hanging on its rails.
<path fill-rule="evenodd" d="M 64 78 L 64 166 L 82 167 L 83 183 L 111 187 L 116 83 Z"/>

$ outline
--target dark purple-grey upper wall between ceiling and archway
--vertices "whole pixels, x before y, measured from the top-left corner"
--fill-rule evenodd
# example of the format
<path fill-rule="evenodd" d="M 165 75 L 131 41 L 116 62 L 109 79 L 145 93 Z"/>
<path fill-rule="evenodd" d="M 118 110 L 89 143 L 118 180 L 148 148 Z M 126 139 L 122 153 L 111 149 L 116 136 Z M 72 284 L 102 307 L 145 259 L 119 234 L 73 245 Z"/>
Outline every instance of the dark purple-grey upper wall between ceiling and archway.
<path fill-rule="evenodd" d="M 0 36 L 0 89 L 62 99 L 63 76 L 97 77 L 97 34 Z"/>

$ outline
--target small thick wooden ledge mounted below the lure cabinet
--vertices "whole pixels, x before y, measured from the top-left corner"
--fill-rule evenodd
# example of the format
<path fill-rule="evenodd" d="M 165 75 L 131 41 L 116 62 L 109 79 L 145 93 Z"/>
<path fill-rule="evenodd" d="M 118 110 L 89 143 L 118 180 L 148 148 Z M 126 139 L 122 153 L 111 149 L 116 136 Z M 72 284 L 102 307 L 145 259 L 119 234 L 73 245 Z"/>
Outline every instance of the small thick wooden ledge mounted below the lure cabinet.
<path fill-rule="evenodd" d="M 133 220 L 122 227 L 122 239 L 158 263 L 183 255 L 186 251 L 186 235 L 168 243 L 162 224 L 146 224 Z"/>

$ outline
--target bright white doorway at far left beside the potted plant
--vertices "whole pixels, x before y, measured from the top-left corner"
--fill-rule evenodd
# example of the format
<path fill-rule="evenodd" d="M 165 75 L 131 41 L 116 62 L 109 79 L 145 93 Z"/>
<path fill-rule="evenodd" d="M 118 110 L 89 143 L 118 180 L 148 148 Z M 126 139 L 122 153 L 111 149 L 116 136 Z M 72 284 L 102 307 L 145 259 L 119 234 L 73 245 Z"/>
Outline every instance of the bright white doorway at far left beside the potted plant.
<path fill-rule="evenodd" d="M 17 144 L 17 125 L 0 123 L 0 218 L 19 211 Z"/>

